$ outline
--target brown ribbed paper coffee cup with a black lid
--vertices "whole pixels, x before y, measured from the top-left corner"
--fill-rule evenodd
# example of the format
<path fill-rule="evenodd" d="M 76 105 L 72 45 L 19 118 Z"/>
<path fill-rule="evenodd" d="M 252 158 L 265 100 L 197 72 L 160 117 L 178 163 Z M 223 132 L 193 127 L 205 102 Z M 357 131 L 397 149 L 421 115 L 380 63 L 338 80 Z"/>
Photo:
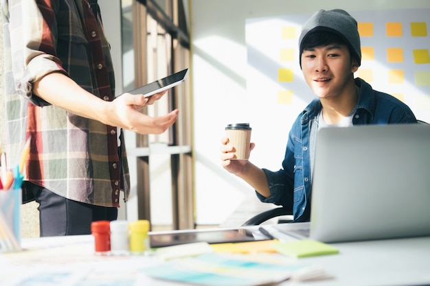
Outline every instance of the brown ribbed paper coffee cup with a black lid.
<path fill-rule="evenodd" d="M 234 147 L 235 158 L 232 160 L 248 160 L 249 144 L 251 143 L 251 127 L 249 123 L 228 124 L 225 128 L 225 135 L 229 139 L 229 144 Z"/>

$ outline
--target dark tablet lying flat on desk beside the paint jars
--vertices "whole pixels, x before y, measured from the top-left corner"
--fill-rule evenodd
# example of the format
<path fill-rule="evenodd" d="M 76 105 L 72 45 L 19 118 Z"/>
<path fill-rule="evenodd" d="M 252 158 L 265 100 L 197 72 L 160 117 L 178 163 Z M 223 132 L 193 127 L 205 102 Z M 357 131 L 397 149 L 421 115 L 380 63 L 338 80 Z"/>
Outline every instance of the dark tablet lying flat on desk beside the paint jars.
<path fill-rule="evenodd" d="M 210 230 L 172 230 L 164 232 L 150 232 L 151 248 L 176 246 L 185 243 L 207 242 L 227 243 L 268 240 L 269 237 L 258 235 L 245 228 L 210 229 Z"/>

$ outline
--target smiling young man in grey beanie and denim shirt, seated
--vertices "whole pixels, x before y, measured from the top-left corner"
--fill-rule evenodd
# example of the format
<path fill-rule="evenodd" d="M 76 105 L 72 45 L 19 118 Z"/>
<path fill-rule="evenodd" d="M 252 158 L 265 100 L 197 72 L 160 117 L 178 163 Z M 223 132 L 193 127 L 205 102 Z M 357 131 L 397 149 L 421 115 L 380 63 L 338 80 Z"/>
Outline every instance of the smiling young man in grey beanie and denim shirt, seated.
<path fill-rule="evenodd" d="M 249 160 L 231 160 L 233 147 L 223 138 L 223 167 L 248 182 L 262 202 L 291 209 L 294 222 L 310 219 L 315 141 L 319 128 L 363 124 L 416 123 L 400 100 L 374 91 L 354 72 L 361 64 L 357 21 L 343 10 L 319 10 L 304 24 L 299 37 L 300 67 L 317 96 L 301 112 L 288 136 L 282 169 L 260 169 Z M 251 143 L 251 150 L 255 147 Z"/>

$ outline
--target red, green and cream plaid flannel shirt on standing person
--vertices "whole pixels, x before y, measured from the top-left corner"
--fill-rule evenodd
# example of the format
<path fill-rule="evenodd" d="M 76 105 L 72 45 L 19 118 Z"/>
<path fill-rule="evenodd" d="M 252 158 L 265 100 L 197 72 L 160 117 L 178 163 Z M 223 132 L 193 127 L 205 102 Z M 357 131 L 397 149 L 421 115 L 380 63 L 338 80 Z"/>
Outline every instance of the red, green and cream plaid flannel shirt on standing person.
<path fill-rule="evenodd" d="M 1 4 L 8 162 L 19 162 L 21 147 L 32 136 L 25 180 L 70 200 L 120 206 L 120 192 L 128 198 L 130 178 L 123 142 L 118 152 L 117 128 L 32 93 L 34 82 L 60 72 L 94 96 L 114 99 L 113 64 L 97 0 Z"/>

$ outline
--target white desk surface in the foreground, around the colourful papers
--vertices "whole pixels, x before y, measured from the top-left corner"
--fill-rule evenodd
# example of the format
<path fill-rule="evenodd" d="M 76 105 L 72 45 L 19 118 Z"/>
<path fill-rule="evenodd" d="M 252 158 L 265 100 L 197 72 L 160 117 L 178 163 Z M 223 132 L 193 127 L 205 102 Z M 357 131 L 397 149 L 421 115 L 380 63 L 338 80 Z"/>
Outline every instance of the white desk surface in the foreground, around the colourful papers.
<path fill-rule="evenodd" d="M 333 278 L 312 283 L 286 281 L 280 285 L 429 285 L 430 237 L 334 243 L 339 254 L 299 259 L 323 267 Z M 98 257 L 93 237 L 24 239 L 23 252 L 0 255 L 1 285 L 183 285 L 136 272 L 152 265 L 152 257 Z M 133 267 L 130 267 L 133 265 Z M 83 279 L 83 280 L 82 280 Z M 124 280 L 125 279 L 125 280 Z M 64 282 L 67 281 L 67 284 Z M 77 281 L 80 281 L 79 283 Z M 82 284 L 84 281 L 84 284 Z M 98 281 L 98 283 L 95 283 Z M 115 281 L 117 284 L 115 284 Z M 35 284 L 31 284 L 35 285 Z M 122 284 L 124 285 L 124 284 Z"/>

